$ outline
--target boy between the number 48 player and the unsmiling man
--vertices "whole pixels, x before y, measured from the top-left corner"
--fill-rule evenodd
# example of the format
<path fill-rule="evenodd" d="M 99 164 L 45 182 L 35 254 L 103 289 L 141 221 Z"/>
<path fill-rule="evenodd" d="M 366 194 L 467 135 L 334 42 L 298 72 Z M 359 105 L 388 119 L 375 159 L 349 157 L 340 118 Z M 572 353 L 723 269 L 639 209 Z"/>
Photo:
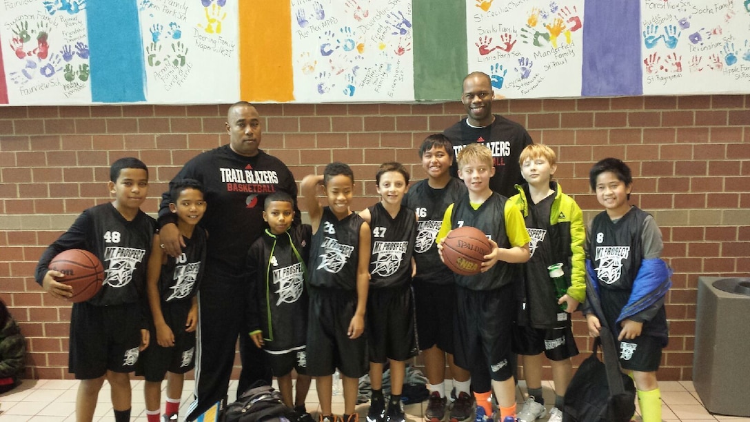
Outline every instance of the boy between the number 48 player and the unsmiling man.
<path fill-rule="evenodd" d="M 148 259 L 148 305 L 151 309 L 151 346 L 138 360 L 137 375 L 144 375 L 145 414 L 159 422 L 161 381 L 166 375 L 164 419 L 176 420 L 185 372 L 195 365 L 195 330 L 198 324 L 196 291 L 205 263 L 205 229 L 198 222 L 205 213 L 203 185 L 181 179 L 169 191 L 169 210 L 177 216 L 184 248 L 178 258 L 166 255 L 159 234 L 151 242 Z"/>

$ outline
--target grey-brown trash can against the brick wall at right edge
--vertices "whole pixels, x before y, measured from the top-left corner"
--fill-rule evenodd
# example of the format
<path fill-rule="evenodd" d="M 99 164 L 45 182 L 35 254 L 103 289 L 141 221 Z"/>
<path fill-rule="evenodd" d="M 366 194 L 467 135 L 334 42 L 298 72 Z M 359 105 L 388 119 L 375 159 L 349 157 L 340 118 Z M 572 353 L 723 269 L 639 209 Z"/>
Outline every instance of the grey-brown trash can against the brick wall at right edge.
<path fill-rule="evenodd" d="M 750 416 L 750 279 L 698 277 L 693 384 L 711 413 Z"/>

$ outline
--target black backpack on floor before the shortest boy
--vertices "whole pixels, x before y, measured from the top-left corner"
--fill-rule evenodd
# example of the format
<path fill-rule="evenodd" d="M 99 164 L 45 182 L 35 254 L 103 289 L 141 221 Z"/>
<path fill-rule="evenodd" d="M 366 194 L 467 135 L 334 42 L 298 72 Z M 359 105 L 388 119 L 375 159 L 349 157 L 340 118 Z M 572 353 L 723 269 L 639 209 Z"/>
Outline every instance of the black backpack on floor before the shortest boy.
<path fill-rule="evenodd" d="M 226 405 L 224 422 L 290 422 L 293 410 L 281 401 L 281 393 L 263 381 L 251 385 L 236 402 Z"/>

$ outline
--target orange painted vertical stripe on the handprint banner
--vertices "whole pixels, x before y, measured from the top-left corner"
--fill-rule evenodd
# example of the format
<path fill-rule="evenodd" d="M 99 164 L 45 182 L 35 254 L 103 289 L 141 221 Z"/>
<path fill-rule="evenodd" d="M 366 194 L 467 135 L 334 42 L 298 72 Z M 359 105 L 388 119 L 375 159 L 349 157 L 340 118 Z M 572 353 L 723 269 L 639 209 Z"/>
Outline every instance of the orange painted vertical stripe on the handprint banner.
<path fill-rule="evenodd" d="M 294 99 L 290 2 L 239 2 L 240 98 Z"/>

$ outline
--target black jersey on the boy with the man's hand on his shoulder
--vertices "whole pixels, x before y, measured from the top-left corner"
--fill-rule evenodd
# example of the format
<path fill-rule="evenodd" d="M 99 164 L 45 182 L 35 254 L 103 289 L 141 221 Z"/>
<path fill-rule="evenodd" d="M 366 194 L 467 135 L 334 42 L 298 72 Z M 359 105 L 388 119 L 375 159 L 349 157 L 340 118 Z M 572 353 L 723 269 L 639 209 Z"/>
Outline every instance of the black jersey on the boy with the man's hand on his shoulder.
<path fill-rule="evenodd" d="M 159 297 L 162 302 L 187 300 L 198 291 L 205 267 L 205 230 L 197 226 L 190 239 L 182 237 L 185 247 L 178 258 L 167 255 L 161 266 Z"/>

